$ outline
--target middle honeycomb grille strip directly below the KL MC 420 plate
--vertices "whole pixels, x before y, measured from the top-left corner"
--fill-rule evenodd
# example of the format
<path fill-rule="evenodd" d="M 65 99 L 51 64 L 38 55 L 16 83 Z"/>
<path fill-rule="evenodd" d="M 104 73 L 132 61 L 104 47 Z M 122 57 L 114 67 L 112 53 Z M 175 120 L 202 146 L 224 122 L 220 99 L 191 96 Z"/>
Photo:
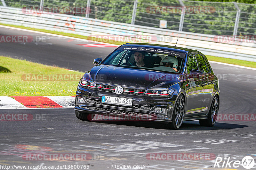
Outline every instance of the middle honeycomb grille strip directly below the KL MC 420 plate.
<path fill-rule="evenodd" d="M 97 99 L 89 99 L 89 98 L 84 98 L 84 99 L 86 103 L 99 104 L 99 105 L 105 105 L 105 106 L 115 106 L 120 108 L 129 108 L 129 109 L 137 109 L 137 110 L 151 110 L 154 108 L 154 106 L 145 106 L 145 105 L 138 105 L 138 104 L 132 104 L 132 107 L 122 106 L 122 105 L 116 105 L 116 104 L 101 103 L 101 100 L 97 100 Z"/>

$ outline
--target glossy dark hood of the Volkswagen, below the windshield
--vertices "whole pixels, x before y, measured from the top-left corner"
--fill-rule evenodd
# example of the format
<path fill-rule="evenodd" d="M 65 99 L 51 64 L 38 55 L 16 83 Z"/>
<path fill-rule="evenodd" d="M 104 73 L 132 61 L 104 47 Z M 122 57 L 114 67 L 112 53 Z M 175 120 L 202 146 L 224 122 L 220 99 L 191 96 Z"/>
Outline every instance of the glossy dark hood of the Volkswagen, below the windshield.
<path fill-rule="evenodd" d="M 84 76 L 96 83 L 140 88 L 169 87 L 179 81 L 179 74 L 106 65 L 95 66 Z"/>

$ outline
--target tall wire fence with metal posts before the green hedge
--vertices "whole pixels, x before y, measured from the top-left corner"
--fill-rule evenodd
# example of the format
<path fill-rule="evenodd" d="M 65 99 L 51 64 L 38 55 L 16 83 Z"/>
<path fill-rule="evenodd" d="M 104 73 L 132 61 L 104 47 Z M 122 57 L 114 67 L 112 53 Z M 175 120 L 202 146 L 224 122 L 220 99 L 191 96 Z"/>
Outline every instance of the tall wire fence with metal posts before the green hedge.
<path fill-rule="evenodd" d="M 202 34 L 244 36 L 256 33 L 255 4 L 189 0 L 0 0 L 0 5 L 5 4 L 40 9 L 84 7 L 86 12 L 80 9 L 68 14 Z M 57 12 L 66 13 L 63 9 Z"/>

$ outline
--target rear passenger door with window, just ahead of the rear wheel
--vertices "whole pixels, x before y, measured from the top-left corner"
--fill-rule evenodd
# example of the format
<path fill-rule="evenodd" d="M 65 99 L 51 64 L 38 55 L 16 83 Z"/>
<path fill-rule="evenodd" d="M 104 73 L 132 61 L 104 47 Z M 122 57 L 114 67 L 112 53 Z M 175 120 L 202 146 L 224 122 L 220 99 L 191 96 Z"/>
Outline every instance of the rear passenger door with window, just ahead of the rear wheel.
<path fill-rule="evenodd" d="M 206 62 L 206 58 L 203 55 L 196 55 L 198 67 L 201 72 L 203 72 L 202 79 L 204 81 L 204 95 L 202 102 L 202 112 L 201 115 L 206 115 L 210 109 L 211 99 L 213 95 L 213 80 L 214 75 L 209 64 Z M 210 103 L 210 104 L 209 104 Z"/>

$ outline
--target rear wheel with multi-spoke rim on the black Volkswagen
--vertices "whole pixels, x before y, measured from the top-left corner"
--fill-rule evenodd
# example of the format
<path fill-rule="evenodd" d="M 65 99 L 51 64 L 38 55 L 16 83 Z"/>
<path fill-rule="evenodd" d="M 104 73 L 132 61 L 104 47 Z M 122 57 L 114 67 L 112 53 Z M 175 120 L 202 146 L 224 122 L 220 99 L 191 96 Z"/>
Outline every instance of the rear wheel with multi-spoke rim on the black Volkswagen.
<path fill-rule="evenodd" d="M 212 127 L 216 123 L 218 112 L 219 112 L 219 105 L 220 105 L 219 98 L 218 96 L 215 96 L 212 100 L 212 105 L 207 116 L 208 118 L 199 120 L 199 124 L 201 126 Z"/>

